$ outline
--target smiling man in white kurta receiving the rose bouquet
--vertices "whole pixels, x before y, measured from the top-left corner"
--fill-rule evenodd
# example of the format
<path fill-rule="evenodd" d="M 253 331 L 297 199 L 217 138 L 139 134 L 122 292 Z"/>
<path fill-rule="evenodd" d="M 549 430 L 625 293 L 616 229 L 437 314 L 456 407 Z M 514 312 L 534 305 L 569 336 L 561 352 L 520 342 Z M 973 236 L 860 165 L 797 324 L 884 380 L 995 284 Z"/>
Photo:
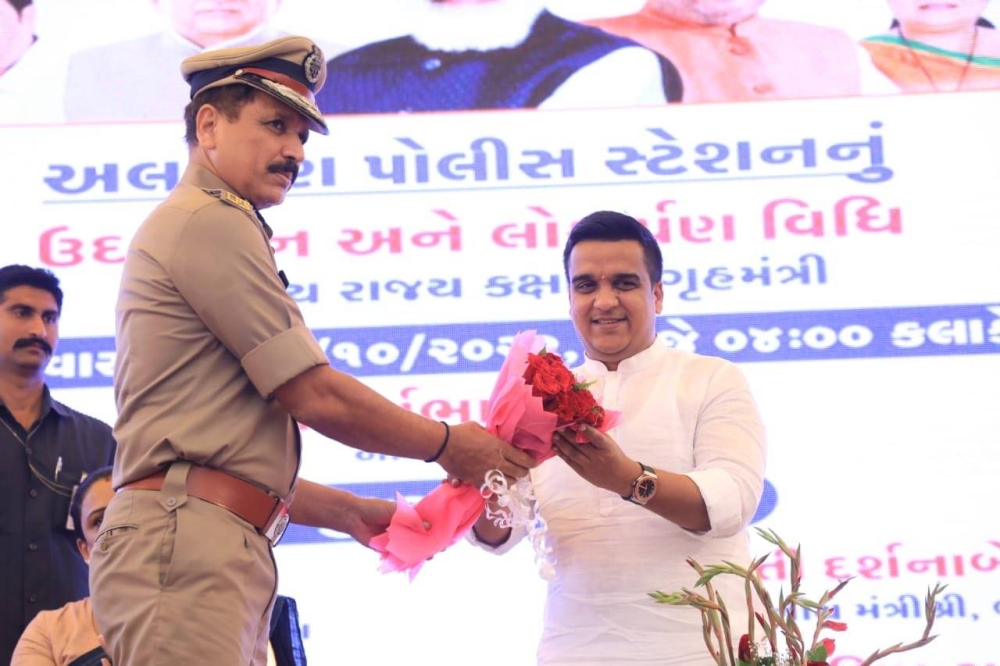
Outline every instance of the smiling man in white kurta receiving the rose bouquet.
<path fill-rule="evenodd" d="M 689 557 L 749 563 L 746 527 L 766 457 L 756 404 L 729 361 L 657 339 L 663 259 L 634 218 L 583 218 L 563 260 L 586 352 L 576 374 L 622 421 L 608 434 L 581 426 L 588 443 L 558 434 L 558 456 L 530 472 L 555 568 L 538 663 L 705 663 L 700 614 L 648 593 L 694 587 Z M 525 534 L 484 515 L 470 536 L 502 553 Z M 742 580 L 713 585 L 729 601 L 731 625 L 746 627 Z"/>

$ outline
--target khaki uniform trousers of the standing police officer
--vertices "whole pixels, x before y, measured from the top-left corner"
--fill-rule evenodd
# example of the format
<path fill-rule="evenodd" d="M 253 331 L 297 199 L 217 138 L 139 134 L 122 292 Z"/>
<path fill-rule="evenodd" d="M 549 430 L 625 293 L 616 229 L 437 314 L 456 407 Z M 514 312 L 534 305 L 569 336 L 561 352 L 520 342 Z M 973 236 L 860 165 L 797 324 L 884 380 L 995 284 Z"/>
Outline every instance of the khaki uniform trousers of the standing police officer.
<path fill-rule="evenodd" d="M 271 546 L 226 509 L 188 497 L 190 463 L 160 491 L 108 505 L 90 560 L 97 626 L 115 666 L 267 663 Z"/>

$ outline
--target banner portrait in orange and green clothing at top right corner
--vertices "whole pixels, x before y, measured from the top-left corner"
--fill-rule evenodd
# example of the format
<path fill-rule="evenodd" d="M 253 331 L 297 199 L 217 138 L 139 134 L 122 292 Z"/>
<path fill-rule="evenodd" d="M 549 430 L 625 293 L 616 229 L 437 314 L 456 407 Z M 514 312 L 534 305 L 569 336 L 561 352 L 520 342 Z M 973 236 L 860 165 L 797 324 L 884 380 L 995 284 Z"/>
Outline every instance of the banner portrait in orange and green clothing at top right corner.
<path fill-rule="evenodd" d="M 862 40 L 872 62 L 904 92 L 1000 88 L 1000 32 L 989 0 L 889 0 L 889 32 Z"/>

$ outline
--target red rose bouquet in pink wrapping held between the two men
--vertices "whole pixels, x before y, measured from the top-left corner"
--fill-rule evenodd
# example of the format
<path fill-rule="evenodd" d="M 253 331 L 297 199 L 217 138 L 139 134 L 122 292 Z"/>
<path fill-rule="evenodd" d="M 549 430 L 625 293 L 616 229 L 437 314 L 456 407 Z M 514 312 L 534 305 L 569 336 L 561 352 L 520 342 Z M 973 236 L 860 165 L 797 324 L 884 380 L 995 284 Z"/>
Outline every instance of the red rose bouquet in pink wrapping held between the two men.
<path fill-rule="evenodd" d="M 620 421 L 620 412 L 605 411 L 587 386 L 558 355 L 545 350 L 544 339 L 535 331 L 518 333 L 497 375 L 486 429 L 536 460 L 547 460 L 555 455 L 552 437 L 556 430 L 586 423 L 604 432 Z M 496 510 L 489 507 L 490 498 Z M 408 571 L 412 580 L 425 561 L 465 536 L 484 509 L 497 526 L 524 526 L 542 576 L 547 578 L 553 571 L 551 549 L 545 545 L 545 521 L 538 515 L 527 478 L 511 485 L 494 469 L 480 486 L 443 483 L 416 506 L 399 494 L 396 503 L 388 529 L 369 544 L 382 554 L 383 573 Z"/>

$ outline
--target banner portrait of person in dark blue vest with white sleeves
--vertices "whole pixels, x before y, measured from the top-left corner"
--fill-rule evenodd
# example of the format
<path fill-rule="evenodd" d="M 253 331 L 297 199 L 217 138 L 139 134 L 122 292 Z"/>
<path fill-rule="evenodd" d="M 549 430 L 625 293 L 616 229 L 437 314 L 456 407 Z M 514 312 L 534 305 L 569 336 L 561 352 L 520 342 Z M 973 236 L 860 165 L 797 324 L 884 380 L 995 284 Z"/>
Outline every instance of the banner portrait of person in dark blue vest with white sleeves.
<path fill-rule="evenodd" d="M 333 58 L 324 113 L 568 109 L 680 101 L 676 68 L 541 0 L 414 0 L 411 34 Z"/>

